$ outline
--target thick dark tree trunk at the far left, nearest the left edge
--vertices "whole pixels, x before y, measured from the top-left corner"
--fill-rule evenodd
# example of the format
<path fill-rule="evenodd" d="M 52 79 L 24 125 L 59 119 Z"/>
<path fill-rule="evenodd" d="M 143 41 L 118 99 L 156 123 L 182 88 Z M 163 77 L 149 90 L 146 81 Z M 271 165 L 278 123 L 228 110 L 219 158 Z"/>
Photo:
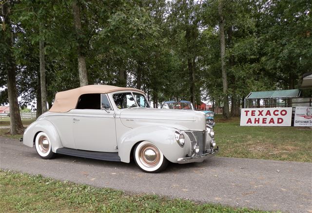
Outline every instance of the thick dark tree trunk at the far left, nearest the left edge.
<path fill-rule="evenodd" d="M 18 103 L 18 93 L 16 87 L 16 63 L 12 54 L 13 46 L 13 33 L 11 29 L 10 20 L 10 7 L 9 1 L 5 1 L 2 4 L 3 22 L 6 26 L 4 29 L 4 42 L 8 46 L 8 52 L 6 53 L 6 70 L 7 70 L 7 86 L 8 86 L 8 98 L 10 104 L 10 134 L 17 135 L 22 134 L 24 131 L 23 124 L 20 119 L 20 107 Z"/>

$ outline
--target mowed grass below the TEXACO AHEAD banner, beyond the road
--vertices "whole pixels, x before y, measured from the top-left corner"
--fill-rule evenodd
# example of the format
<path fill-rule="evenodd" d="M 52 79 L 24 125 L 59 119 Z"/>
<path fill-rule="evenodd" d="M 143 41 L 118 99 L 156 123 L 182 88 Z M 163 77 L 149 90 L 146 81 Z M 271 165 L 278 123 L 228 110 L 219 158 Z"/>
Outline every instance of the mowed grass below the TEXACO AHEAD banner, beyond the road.
<path fill-rule="evenodd" d="M 218 156 L 312 162 L 312 129 L 309 127 L 240 126 L 216 116 Z"/>

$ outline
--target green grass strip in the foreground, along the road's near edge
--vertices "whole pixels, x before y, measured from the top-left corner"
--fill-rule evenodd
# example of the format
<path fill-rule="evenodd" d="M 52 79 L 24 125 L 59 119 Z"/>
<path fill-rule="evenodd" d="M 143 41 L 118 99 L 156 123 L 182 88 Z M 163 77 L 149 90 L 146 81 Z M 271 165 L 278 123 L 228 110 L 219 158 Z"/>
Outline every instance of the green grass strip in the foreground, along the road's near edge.
<path fill-rule="evenodd" d="M 41 175 L 0 170 L 0 212 L 268 213 L 158 195 L 125 194 Z"/>

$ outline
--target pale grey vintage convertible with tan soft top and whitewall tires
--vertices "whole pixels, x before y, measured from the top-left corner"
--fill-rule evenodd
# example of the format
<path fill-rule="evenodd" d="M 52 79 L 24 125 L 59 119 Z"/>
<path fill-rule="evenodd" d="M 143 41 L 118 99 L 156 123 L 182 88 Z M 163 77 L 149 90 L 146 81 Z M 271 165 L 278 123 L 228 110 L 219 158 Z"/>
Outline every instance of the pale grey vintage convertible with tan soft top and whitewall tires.
<path fill-rule="evenodd" d="M 88 85 L 59 92 L 49 112 L 25 130 L 23 144 L 44 159 L 55 154 L 122 161 L 144 172 L 202 162 L 218 152 L 214 130 L 196 111 L 152 109 L 144 92 Z"/>

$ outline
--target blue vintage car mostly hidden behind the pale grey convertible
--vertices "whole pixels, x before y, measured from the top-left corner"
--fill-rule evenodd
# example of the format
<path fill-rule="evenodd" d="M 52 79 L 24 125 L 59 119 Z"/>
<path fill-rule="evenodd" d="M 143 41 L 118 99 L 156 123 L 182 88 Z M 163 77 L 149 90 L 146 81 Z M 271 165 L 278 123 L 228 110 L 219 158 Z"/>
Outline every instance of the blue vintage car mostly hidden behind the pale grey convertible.
<path fill-rule="evenodd" d="M 195 110 L 193 107 L 192 102 L 187 100 L 180 100 L 180 101 L 165 101 L 161 106 L 161 109 L 176 109 L 176 110 Z M 206 123 L 212 126 L 215 126 L 214 116 L 215 113 L 212 111 L 201 111 L 205 113 L 206 116 Z"/>

